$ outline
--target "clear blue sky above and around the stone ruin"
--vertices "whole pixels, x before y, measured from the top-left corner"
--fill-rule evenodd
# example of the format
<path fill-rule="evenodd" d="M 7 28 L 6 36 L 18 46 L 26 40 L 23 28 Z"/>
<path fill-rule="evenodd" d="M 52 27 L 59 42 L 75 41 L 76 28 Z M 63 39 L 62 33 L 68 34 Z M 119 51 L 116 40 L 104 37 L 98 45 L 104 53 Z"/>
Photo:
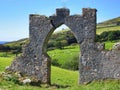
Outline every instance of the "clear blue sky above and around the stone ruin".
<path fill-rule="evenodd" d="M 71 15 L 82 8 L 97 9 L 97 23 L 120 16 L 120 0 L 0 0 L 0 41 L 29 37 L 29 15 L 50 16 L 66 7 Z"/>

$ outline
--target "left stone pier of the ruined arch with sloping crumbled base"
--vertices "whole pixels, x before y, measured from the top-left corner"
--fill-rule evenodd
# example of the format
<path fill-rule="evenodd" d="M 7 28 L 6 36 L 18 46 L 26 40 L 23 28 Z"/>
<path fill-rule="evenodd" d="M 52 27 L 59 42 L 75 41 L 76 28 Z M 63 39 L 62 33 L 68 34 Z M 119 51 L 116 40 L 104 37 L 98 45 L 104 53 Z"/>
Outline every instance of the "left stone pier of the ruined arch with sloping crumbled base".
<path fill-rule="evenodd" d="M 30 15 L 29 43 L 24 47 L 23 54 L 17 57 L 8 71 L 20 73 L 32 82 L 50 84 L 51 63 L 46 53 L 48 33 L 52 29 L 46 16 Z"/>

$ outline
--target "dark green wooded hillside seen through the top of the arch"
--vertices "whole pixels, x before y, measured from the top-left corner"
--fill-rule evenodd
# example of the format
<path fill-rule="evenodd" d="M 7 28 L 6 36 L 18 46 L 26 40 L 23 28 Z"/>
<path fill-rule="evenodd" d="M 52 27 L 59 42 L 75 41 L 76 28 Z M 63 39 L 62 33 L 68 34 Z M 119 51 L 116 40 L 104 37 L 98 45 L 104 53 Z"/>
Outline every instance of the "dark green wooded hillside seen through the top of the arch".
<path fill-rule="evenodd" d="M 77 40 L 71 31 L 64 31 L 52 34 L 47 48 L 55 47 L 59 49 L 63 49 L 64 46 L 68 46 L 70 44 L 77 43 Z"/>

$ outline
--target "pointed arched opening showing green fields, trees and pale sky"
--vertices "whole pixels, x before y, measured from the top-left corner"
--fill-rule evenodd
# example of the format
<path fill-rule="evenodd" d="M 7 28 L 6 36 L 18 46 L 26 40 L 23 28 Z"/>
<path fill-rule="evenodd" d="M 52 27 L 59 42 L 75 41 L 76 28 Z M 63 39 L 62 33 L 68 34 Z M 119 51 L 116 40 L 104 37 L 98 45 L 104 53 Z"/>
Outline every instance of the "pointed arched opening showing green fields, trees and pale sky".
<path fill-rule="evenodd" d="M 51 58 L 51 84 L 77 84 L 80 48 L 72 30 L 62 24 L 48 38 L 47 54 Z"/>

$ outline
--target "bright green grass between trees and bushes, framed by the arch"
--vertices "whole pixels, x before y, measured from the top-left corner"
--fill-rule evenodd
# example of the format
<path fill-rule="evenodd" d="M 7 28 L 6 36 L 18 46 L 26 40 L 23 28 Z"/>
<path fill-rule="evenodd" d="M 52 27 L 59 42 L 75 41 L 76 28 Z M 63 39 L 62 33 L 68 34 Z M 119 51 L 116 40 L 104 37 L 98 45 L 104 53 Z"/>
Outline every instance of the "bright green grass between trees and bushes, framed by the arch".
<path fill-rule="evenodd" d="M 71 60 L 71 58 L 75 55 L 79 56 L 80 47 L 78 45 L 75 46 L 67 46 L 64 49 L 55 49 L 52 51 L 48 51 L 48 55 L 52 60 L 58 60 L 59 64 L 64 64 L 65 62 Z"/>

